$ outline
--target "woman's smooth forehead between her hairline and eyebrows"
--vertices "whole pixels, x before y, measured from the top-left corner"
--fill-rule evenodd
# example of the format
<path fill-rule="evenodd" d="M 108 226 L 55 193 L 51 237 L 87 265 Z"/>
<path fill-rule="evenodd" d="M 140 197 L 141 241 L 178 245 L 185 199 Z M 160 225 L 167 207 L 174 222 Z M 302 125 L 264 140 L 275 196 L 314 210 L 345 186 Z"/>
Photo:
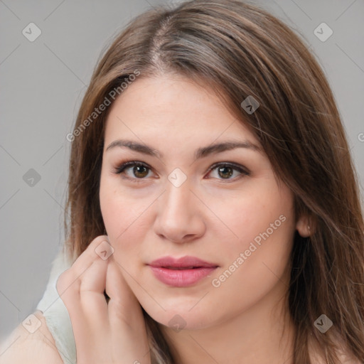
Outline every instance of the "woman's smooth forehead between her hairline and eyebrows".
<path fill-rule="evenodd" d="M 209 87 L 178 75 L 139 78 L 114 101 L 107 117 L 105 144 L 115 137 L 176 143 L 203 139 L 245 139 L 252 132 L 233 116 Z"/>

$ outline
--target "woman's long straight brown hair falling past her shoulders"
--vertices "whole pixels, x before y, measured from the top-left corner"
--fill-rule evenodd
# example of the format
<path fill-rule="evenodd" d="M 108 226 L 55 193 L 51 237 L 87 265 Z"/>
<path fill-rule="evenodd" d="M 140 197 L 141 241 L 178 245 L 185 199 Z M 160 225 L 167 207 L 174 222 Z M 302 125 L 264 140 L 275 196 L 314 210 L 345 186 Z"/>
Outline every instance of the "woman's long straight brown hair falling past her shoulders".
<path fill-rule="evenodd" d="M 93 114 L 88 126 L 95 107 L 123 81 L 129 83 L 133 73 L 140 73 L 137 80 L 168 73 L 203 82 L 252 130 L 279 181 L 294 194 L 296 218 L 308 217 L 314 230 L 310 237 L 296 232 L 291 252 L 287 301 L 296 327 L 294 363 L 312 363 L 311 339 L 328 364 L 339 363 L 336 339 L 364 363 L 358 179 L 333 93 L 304 41 L 258 6 L 196 0 L 149 9 L 103 53 L 82 100 L 70 151 L 65 209 L 70 259 L 106 231 L 99 188 L 110 107 Z M 259 102 L 252 114 L 241 107 L 249 95 Z M 314 326 L 321 314 L 333 321 L 325 334 Z M 144 316 L 152 363 L 173 363 L 159 324 L 145 311 Z"/>

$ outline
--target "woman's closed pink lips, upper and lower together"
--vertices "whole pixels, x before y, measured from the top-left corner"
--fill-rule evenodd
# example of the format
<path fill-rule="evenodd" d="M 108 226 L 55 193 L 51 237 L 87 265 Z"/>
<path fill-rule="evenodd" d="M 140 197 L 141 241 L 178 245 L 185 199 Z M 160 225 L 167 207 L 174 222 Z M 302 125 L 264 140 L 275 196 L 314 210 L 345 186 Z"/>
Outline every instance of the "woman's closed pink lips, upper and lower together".
<path fill-rule="evenodd" d="M 172 287 L 188 287 L 211 274 L 218 265 L 204 262 L 196 257 L 163 257 L 150 264 L 154 276 Z"/>

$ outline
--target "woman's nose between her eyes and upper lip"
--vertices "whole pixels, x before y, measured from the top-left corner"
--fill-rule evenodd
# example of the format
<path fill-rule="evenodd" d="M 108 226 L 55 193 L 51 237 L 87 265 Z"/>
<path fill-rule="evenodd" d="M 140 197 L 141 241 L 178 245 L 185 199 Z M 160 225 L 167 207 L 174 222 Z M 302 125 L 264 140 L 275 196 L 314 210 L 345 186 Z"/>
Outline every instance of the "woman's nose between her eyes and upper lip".
<path fill-rule="evenodd" d="M 179 187 L 167 182 L 166 191 L 158 199 L 154 232 L 175 243 L 191 242 L 205 233 L 203 204 L 188 180 Z"/>

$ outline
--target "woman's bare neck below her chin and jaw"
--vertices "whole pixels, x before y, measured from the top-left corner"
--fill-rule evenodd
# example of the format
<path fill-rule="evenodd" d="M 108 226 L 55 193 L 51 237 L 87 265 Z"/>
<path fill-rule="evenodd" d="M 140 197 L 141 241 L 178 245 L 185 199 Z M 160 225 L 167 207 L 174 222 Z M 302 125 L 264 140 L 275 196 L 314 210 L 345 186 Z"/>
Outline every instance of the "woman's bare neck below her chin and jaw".
<path fill-rule="evenodd" d="M 174 363 L 293 364 L 294 325 L 287 311 L 287 292 L 280 288 L 208 328 L 176 332 L 160 326 Z"/>

